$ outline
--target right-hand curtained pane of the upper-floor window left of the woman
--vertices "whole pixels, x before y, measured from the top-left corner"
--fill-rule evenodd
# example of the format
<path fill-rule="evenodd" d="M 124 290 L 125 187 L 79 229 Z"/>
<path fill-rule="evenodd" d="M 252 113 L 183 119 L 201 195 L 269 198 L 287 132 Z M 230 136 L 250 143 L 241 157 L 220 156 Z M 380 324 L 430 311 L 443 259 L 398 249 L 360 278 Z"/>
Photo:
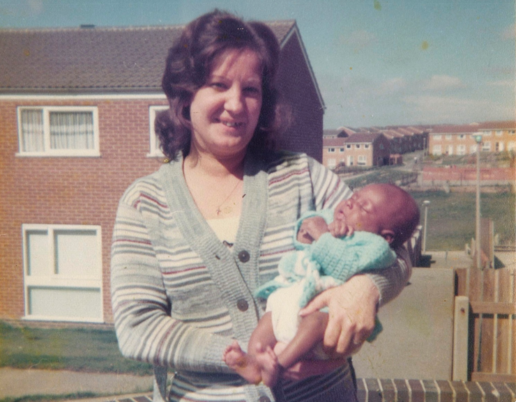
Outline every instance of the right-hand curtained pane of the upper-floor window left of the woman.
<path fill-rule="evenodd" d="M 50 112 L 50 148 L 93 149 L 93 113 Z"/>

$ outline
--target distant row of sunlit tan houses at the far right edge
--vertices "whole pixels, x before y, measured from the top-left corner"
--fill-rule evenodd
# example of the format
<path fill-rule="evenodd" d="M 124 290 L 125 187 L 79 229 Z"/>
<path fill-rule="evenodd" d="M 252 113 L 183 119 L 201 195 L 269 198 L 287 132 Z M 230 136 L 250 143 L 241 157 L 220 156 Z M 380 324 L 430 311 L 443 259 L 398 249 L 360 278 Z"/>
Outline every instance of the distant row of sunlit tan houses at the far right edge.
<path fill-rule="evenodd" d="M 476 153 L 474 138 L 482 135 L 480 150 L 485 152 L 516 151 L 516 122 L 494 121 L 468 125 L 438 125 L 430 132 L 430 155 L 469 155 Z"/>

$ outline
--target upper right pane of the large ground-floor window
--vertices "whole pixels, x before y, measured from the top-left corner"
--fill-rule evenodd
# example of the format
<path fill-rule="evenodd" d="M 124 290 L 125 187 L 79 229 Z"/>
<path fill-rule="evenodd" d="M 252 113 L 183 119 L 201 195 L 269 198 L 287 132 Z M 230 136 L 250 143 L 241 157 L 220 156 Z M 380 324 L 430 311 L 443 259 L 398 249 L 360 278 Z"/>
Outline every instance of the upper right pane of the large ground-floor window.
<path fill-rule="evenodd" d="M 55 273 L 63 277 L 98 277 L 96 231 L 54 231 Z"/>

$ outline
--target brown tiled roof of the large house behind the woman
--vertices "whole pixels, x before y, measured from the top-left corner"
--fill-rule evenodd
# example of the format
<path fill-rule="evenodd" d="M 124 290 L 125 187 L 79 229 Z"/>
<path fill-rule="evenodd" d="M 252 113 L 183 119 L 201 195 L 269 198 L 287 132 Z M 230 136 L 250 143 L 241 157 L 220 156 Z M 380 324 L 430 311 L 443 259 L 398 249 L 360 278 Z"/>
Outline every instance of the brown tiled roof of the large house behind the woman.
<path fill-rule="evenodd" d="M 294 20 L 266 24 L 280 45 L 297 31 Z M 168 49 L 182 29 L 0 29 L 0 93 L 161 92 Z"/>

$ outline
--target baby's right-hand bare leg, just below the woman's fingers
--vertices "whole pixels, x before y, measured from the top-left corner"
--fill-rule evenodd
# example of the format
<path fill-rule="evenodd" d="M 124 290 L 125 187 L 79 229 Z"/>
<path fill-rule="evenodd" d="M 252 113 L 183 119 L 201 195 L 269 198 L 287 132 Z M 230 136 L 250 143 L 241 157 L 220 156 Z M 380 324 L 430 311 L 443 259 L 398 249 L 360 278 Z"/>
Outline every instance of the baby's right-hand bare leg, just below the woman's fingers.
<path fill-rule="evenodd" d="M 328 314 L 315 311 L 305 316 L 299 324 L 296 336 L 278 355 L 278 363 L 284 369 L 298 362 L 306 353 L 324 339 L 324 332 L 328 325 Z"/>

